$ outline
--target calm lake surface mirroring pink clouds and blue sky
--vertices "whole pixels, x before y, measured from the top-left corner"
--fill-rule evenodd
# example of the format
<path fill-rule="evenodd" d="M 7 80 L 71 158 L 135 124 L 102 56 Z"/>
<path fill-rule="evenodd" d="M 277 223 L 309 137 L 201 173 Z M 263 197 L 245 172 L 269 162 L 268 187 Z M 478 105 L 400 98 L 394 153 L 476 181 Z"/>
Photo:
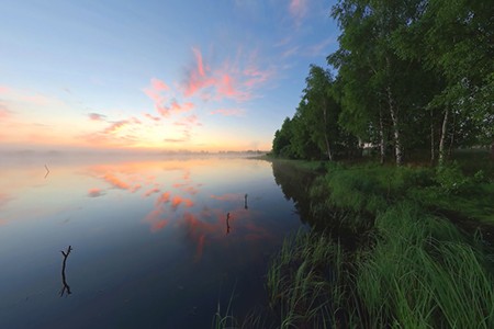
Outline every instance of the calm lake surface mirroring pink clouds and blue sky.
<path fill-rule="evenodd" d="M 0 328 L 210 328 L 302 225 L 263 160 L 1 161 Z"/>

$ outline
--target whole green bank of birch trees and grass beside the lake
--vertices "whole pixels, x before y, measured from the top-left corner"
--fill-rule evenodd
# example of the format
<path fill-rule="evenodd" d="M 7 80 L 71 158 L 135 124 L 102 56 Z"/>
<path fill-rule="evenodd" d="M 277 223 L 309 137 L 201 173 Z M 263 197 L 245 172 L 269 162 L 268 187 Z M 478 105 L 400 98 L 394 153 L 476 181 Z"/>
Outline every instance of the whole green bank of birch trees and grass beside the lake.
<path fill-rule="evenodd" d="M 493 7 L 340 0 L 332 16 L 339 49 L 272 144 L 313 170 L 296 189 L 273 160 L 311 226 L 267 275 L 274 327 L 493 328 Z"/>

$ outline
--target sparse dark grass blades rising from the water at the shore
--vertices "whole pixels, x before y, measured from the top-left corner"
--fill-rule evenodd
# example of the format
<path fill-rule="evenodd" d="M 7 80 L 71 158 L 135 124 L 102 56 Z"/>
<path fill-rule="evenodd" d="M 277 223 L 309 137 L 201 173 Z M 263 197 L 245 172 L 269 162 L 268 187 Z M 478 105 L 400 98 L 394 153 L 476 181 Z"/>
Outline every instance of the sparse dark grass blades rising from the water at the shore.
<path fill-rule="evenodd" d="M 340 304 L 344 253 L 325 235 L 300 231 L 285 239 L 267 279 L 279 328 L 330 328 Z"/>

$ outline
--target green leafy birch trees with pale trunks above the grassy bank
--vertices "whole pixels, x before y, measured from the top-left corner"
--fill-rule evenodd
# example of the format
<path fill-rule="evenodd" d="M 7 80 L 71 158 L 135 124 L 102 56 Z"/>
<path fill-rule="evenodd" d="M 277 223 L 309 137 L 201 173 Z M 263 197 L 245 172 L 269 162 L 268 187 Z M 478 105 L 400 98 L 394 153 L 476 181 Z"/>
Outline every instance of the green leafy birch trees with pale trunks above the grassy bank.
<path fill-rule="evenodd" d="M 394 157 L 425 151 L 444 161 L 494 136 L 494 5 L 485 0 L 340 0 L 341 34 L 312 65 L 296 112 L 272 154 L 340 159 L 371 147 Z"/>

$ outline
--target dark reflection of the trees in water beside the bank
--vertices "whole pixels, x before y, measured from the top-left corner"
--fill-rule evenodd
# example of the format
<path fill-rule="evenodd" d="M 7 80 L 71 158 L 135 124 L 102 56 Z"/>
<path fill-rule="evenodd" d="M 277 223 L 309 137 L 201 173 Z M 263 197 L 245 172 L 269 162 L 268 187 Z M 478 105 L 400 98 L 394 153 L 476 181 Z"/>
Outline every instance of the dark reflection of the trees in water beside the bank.
<path fill-rule="evenodd" d="M 272 161 L 274 181 L 281 188 L 287 200 L 293 201 L 296 213 L 303 223 L 311 219 L 310 190 L 316 173 L 296 168 L 282 161 Z M 308 223 L 311 224 L 311 223 Z"/>

